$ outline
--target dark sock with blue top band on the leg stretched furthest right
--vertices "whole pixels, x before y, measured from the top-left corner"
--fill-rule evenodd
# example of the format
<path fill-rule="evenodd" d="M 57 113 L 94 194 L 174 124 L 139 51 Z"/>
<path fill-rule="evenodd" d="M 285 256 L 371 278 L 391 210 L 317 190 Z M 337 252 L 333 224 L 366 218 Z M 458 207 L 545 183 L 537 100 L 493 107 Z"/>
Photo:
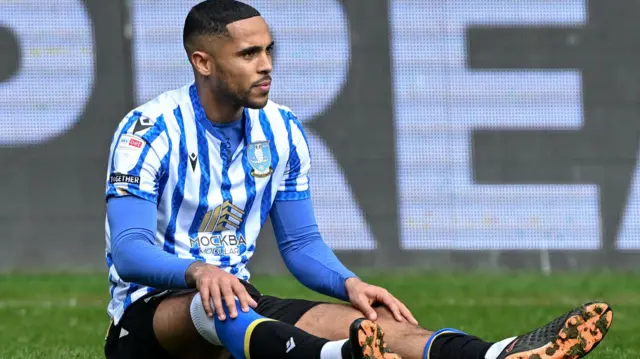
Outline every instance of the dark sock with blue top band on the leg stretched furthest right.
<path fill-rule="evenodd" d="M 424 359 L 485 359 L 491 346 L 459 330 L 440 329 L 429 338 Z"/>

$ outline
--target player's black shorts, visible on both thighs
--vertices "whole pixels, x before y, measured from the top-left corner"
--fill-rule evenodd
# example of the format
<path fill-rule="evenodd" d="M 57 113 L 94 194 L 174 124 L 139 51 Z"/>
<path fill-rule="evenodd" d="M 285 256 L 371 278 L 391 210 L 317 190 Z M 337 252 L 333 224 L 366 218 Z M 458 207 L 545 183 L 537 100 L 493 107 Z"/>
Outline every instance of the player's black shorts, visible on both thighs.
<path fill-rule="evenodd" d="M 253 285 L 241 281 L 249 295 L 258 303 L 255 311 L 266 318 L 294 325 L 311 308 L 322 302 L 302 299 L 280 299 L 262 295 Z M 176 292 L 158 291 L 135 301 L 122 316 L 118 325 L 107 331 L 104 346 L 107 359 L 171 359 L 160 346 L 153 332 L 153 316 L 158 305 Z M 123 331 L 124 330 L 124 331 Z M 126 334 L 126 335 L 123 335 Z"/>

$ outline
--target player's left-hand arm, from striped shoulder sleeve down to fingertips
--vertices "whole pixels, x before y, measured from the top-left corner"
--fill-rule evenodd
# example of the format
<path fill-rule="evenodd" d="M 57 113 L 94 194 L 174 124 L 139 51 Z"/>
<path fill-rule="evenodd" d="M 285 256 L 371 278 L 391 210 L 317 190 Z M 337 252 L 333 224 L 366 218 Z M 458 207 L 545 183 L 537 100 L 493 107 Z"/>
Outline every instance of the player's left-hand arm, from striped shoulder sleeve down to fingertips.
<path fill-rule="evenodd" d="M 171 146 L 162 116 L 155 123 L 149 120 L 138 126 L 140 116 L 134 113 L 123 122 L 109 165 L 107 216 L 116 271 L 127 282 L 152 288 L 197 288 L 207 315 L 214 313 L 211 299 L 220 320 L 225 319 L 223 300 L 231 317 L 237 316 L 234 296 L 243 311 L 255 308 L 257 304 L 235 276 L 156 246 L 157 202 Z"/>

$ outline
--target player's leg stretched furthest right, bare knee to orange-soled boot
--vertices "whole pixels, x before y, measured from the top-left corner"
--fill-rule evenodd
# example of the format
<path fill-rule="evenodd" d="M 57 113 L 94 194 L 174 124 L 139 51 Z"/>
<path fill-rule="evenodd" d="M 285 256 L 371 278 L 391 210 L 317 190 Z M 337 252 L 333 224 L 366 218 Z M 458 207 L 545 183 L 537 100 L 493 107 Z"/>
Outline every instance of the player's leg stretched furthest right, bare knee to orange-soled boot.
<path fill-rule="evenodd" d="M 399 323 L 385 308 L 376 311 L 389 347 L 405 359 L 578 359 L 602 341 L 613 319 L 606 303 L 588 303 L 527 334 L 488 343 L 454 329 L 434 333 Z M 321 304 L 302 315 L 296 326 L 333 339 L 344 336 L 344 323 L 358 316 L 362 313 L 350 306 Z"/>

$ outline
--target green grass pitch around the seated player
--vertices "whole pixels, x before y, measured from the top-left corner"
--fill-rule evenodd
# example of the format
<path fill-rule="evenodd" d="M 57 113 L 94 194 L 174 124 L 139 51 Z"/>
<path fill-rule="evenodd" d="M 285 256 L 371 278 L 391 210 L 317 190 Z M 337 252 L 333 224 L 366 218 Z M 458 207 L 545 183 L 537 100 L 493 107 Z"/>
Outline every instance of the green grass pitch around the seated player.
<path fill-rule="evenodd" d="M 572 307 L 605 300 L 611 330 L 590 359 L 640 358 L 640 275 L 368 275 L 403 300 L 428 329 L 459 328 L 499 340 L 542 325 Z M 324 299 L 289 276 L 254 277 L 264 293 Z M 104 274 L 0 275 L 0 358 L 103 358 L 108 325 Z"/>

